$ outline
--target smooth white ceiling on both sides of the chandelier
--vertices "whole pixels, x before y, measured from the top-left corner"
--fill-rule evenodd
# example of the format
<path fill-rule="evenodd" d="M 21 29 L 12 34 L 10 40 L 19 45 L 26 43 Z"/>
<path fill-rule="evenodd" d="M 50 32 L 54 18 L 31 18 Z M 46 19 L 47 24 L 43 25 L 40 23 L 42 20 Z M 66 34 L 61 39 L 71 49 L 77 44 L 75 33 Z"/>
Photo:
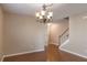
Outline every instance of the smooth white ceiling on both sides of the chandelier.
<path fill-rule="evenodd" d="M 9 13 L 28 14 L 35 17 L 35 12 L 43 3 L 2 3 L 2 9 Z M 87 11 L 87 3 L 53 3 L 53 19 L 67 18 L 72 14 Z"/>

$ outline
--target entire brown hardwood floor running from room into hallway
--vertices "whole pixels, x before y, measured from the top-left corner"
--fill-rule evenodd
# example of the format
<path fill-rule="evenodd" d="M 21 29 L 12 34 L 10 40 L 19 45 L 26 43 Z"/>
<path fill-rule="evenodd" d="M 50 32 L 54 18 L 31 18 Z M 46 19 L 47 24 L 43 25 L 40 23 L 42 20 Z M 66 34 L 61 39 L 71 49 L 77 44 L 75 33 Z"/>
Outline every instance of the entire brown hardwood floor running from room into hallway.
<path fill-rule="evenodd" d="M 4 57 L 3 62 L 87 62 L 87 58 L 59 51 L 58 46 L 50 44 L 43 52 Z"/>

